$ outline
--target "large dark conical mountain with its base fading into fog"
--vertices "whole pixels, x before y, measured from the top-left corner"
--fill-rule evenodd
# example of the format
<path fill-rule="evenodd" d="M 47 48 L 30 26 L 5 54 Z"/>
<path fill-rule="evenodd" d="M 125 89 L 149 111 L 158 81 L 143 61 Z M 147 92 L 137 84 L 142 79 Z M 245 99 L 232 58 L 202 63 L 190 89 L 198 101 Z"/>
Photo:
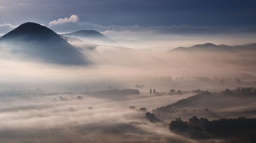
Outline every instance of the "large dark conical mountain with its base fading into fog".
<path fill-rule="evenodd" d="M 84 65 L 85 56 L 51 29 L 27 22 L 0 38 L 1 47 L 23 58 L 49 63 Z"/>

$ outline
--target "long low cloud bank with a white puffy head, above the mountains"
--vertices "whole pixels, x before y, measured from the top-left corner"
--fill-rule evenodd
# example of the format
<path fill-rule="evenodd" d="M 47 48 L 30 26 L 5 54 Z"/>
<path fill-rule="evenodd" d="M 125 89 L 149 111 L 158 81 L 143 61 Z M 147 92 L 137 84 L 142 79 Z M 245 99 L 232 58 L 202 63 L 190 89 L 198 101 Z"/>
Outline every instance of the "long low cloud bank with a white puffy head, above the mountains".
<path fill-rule="evenodd" d="M 172 25 L 172 26 L 155 26 L 142 27 L 139 25 L 119 26 L 108 25 L 102 26 L 89 22 L 80 22 L 79 16 L 71 15 L 70 18 L 59 18 L 51 21 L 49 28 L 56 32 L 74 32 L 79 30 L 96 30 L 100 32 L 139 32 L 139 33 L 162 33 L 162 34 L 205 34 L 205 33 L 255 33 L 256 27 L 218 27 L 218 26 L 189 26 L 189 25 Z"/>

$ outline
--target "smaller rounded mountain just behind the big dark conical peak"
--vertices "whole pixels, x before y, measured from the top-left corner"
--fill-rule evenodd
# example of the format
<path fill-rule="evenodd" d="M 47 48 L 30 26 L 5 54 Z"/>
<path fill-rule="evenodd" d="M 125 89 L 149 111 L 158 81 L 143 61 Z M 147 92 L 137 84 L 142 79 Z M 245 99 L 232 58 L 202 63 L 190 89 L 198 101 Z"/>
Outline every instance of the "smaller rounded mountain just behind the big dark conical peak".
<path fill-rule="evenodd" d="M 82 39 L 84 38 L 84 39 L 98 39 L 98 40 L 112 41 L 109 37 L 95 30 L 81 30 L 81 31 L 65 33 L 60 35 L 63 35 L 66 37 L 73 37 L 73 38 L 76 37 L 76 38 L 82 38 Z"/>

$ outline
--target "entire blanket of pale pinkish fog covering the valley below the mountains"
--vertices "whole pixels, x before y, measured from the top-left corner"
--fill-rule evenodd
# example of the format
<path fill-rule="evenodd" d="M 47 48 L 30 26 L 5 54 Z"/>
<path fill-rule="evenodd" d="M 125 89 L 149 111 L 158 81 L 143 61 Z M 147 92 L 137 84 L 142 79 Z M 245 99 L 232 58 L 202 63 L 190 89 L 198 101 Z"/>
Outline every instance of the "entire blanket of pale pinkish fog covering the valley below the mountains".
<path fill-rule="evenodd" d="M 35 51 L 26 52 L 34 47 L 26 45 L 25 51 L 15 52 L 11 45 L 2 44 L 0 142 L 225 142 L 223 138 L 198 139 L 175 133 L 168 124 L 175 118 L 187 121 L 192 116 L 209 120 L 255 118 L 255 96 L 233 97 L 222 92 L 227 88 L 255 87 L 255 50 L 167 51 L 209 42 L 233 45 L 237 41 L 242 45 L 252 40 L 188 39 L 190 35 L 178 40 L 181 35 L 177 36 L 173 40 L 164 35 L 155 40 L 150 36 L 133 37 L 135 41 L 123 36 L 116 42 L 62 37 L 90 61 L 86 65 L 50 62 L 52 59 L 49 61 L 44 55 L 35 56 Z M 67 55 L 58 56 L 65 60 Z M 138 89 L 140 94 L 91 93 L 115 89 Z M 150 94 L 150 89 L 156 93 Z M 172 94 L 171 89 L 181 93 Z M 195 96 L 198 93 L 192 90 L 197 89 L 208 90 L 212 96 L 195 97 L 192 104 L 158 110 Z M 147 110 L 139 110 L 143 107 Z M 145 116 L 146 112 L 155 113 L 154 123 Z"/>

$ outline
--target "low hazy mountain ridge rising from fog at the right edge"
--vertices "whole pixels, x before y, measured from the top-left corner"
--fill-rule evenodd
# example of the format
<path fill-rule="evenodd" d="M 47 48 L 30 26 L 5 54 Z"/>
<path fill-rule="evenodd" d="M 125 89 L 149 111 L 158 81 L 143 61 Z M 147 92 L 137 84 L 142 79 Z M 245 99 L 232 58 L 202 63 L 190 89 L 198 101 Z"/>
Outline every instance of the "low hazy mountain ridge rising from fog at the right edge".
<path fill-rule="evenodd" d="M 191 47 L 177 47 L 167 52 L 176 51 L 239 51 L 239 50 L 256 50 L 256 43 L 245 45 L 228 46 L 225 44 L 215 45 L 213 43 L 198 44 Z"/>

